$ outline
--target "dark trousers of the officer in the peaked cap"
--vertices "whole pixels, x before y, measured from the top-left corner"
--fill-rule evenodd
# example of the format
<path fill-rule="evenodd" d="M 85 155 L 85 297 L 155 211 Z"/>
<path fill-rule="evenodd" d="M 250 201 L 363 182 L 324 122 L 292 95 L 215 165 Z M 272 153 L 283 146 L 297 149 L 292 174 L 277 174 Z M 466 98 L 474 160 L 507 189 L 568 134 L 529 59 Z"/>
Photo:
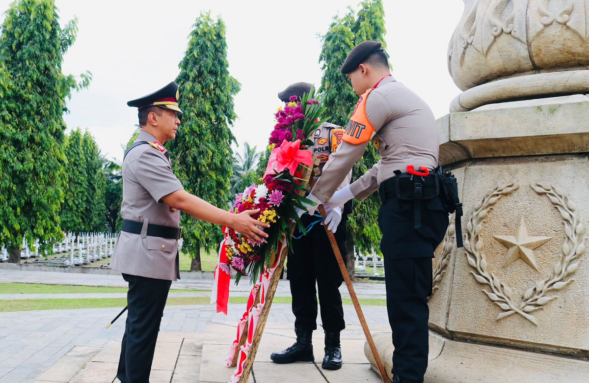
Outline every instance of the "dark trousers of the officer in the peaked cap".
<path fill-rule="evenodd" d="M 127 322 L 117 378 L 123 383 L 148 383 L 171 280 L 123 274 L 129 283 Z"/>

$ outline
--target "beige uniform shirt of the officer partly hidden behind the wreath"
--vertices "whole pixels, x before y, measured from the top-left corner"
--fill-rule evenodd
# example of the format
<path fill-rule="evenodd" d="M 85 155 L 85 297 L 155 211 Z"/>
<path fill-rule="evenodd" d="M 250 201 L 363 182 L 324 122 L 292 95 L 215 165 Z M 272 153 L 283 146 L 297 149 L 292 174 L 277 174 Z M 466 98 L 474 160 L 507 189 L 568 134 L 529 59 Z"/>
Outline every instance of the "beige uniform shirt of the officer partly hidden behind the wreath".
<path fill-rule="evenodd" d="M 321 161 L 319 163 L 319 170 L 322 171 L 322 174 L 327 165 L 332 163 L 332 153 L 335 152 L 337 147 L 342 143 L 344 131 L 345 129 L 338 125 L 323 123 L 315 130 L 315 132 L 313 132 L 312 140 L 314 141 L 314 144 L 313 146 L 309 147 L 309 150 Z M 317 182 L 319 178 L 320 176 L 315 177 L 315 182 Z M 336 190 L 340 190 L 348 186 L 350 184 L 350 180 L 352 180 L 351 169 L 340 182 L 339 186 L 337 186 Z M 310 192 L 310 190 L 307 191 Z"/>

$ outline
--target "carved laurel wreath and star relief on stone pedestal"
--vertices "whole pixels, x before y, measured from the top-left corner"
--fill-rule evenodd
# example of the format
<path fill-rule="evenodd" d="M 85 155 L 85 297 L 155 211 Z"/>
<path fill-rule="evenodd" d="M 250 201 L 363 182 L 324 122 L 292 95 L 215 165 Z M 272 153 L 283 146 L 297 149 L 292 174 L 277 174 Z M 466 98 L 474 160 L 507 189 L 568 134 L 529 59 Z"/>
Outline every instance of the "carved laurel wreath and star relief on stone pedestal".
<path fill-rule="evenodd" d="M 485 253 L 482 251 L 482 225 L 485 217 L 491 213 L 497 201 L 519 188 L 519 185 L 515 183 L 496 187 L 475 206 L 466 227 L 464 249 L 468 264 L 473 269 L 471 271 L 472 275 L 478 283 L 486 285 L 482 292 L 502 310 L 497 316 L 497 320 L 517 313 L 537 325 L 538 323 L 532 312 L 544 308 L 548 302 L 558 298 L 556 293 L 574 281 L 571 277 L 579 268 L 579 258 L 585 253 L 585 226 L 578 219 L 577 213 L 575 213 L 576 207 L 573 201 L 558 187 L 540 183 L 531 184 L 530 187 L 537 194 L 545 195 L 550 199 L 552 205 L 560 213 L 564 225 L 562 253 L 550 275 L 535 282 L 535 285 L 524 293 L 521 302 L 517 303 L 512 289 L 488 270 Z M 517 237 L 495 236 L 495 239 L 509 247 L 508 260 L 505 265 L 521 258 L 531 267 L 537 269 L 532 250 L 551 240 L 551 237 L 529 237 L 522 219 Z"/>

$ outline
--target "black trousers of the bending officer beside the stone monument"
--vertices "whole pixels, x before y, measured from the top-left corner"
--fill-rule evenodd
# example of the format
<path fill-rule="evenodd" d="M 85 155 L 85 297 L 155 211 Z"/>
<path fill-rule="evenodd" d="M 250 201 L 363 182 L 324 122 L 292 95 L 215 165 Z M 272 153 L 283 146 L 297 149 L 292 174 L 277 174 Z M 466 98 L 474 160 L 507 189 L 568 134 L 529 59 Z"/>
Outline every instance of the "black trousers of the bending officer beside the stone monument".
<path fill-rule="evenodd" d="M 422 202 L 421 214 L 422 227 L 415 229 L 413 202 L 396 197 L 383 202 L 379 212 L 393 374 L 417 382 L 428 368 L 432 257 L 448 227 L 448 213 L 438 199 Z"/>

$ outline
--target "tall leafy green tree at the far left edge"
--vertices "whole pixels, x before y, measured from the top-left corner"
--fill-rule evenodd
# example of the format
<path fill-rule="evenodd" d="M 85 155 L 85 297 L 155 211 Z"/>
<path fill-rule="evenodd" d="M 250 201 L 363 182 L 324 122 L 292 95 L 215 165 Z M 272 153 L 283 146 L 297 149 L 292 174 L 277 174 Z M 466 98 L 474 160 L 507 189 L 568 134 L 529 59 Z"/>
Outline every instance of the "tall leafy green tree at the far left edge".
<path fill-rule="evenodd" d="M 59 26 L 52 0 L 12 2 L 0 27 L 0 240 L 20 262 L 23 238 L 41 253 L 61 239 L 66 101 L 85 87 L 61 71 L 76 20 Z"/>

